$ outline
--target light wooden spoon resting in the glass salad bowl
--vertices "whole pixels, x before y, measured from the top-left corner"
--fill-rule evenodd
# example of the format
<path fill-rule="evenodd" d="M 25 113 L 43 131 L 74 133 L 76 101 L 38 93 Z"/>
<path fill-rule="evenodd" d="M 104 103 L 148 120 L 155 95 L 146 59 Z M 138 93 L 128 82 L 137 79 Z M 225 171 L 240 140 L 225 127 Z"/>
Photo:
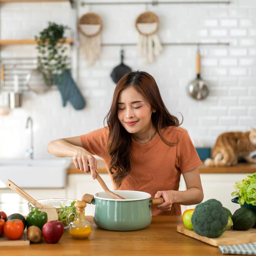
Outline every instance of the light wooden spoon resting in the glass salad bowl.
<path fill-rule="evenodd" d="M 24 190 L 22 190 L 19 186 L 17 186 L 15 183 L 13 183 L 11 180 L 7 180 L 6 186 L 8 186 L 11 190 L 16 192 L 18 195 L 20 195 L 27 201 L 29 201 L 35 207 L 43 208 L 43 209 L 38 209 L 38 210 L 44 211 L 47 213 L 47 221 L 59 219 L 58 211 L 52 205 L 39 203 L 34 198 L 32 198 L 29 194 L 27 194 Z"/>

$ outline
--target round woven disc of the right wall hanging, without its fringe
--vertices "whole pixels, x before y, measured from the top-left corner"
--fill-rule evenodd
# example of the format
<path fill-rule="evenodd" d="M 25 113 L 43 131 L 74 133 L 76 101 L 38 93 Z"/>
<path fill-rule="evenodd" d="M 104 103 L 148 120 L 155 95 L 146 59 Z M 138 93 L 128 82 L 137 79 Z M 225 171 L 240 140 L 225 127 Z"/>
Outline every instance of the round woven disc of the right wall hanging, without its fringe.
<path fill-rule="evenodd" d="M 140 29 L 140 25 L 141 24 L 147 24 L 147 23 L 151 23 L 153 26 L 152 26 L 152 29 L 151 31 L 142 31 Z M 158 17 L 155 13 L 151 12 L 151 11 L 146 11 L 146 12 L 143 12 L 142 14 L 140 14 L 136 21 L 135 21 L 135 27 L 136 27 L 136 30 L 138 30 L 138 32 L 144 36 L 150 36 L 150 35 L 153 35 L 157 32 L 158 28 L 159 28 L 159 20 L 158 20 Z"/>

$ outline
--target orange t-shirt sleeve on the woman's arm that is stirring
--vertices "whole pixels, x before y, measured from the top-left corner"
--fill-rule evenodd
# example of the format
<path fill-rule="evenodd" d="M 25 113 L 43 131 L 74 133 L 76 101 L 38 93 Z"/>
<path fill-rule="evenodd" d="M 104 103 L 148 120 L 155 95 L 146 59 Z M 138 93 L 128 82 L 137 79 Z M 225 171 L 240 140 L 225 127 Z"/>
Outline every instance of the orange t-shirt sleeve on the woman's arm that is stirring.
<path fill-rule="evenodd" d="M 89 153 L 103 157 L 106 155 L 106 147 L 108 143 L 108 127 L 92 131 L 80 135 L 80 139 L 83 145 Z"/>

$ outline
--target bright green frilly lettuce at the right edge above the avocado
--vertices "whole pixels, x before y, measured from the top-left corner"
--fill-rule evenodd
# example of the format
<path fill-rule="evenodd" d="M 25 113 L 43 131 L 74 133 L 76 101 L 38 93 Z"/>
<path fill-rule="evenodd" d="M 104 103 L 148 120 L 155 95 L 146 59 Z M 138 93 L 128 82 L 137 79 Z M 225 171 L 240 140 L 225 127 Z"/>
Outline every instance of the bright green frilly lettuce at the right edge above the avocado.
<path fill-rule="evenodd" d="M 247 174 L 247 178 L 237 181 L 233 185 L 236 191 L 232 192 L 231 196 L 239 196 L 238 202 L 241 205 L 245 202 L 256 205 L 256 173 Z"/>

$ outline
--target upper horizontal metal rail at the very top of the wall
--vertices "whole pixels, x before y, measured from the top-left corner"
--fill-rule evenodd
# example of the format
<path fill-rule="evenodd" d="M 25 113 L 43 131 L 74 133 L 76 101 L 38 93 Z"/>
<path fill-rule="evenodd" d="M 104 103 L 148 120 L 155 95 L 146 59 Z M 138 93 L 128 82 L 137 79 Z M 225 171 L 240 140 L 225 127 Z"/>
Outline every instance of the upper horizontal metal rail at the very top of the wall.
<path fill-rule="evenodd" d="M 161 2 L 161 1 L 151 1 L 151 2 L 81 2 L 81 5 L 177 5 L 177 4 L 230 4 L 230 0 L 226 1 L 171 1 L 171 2 Z"/>

